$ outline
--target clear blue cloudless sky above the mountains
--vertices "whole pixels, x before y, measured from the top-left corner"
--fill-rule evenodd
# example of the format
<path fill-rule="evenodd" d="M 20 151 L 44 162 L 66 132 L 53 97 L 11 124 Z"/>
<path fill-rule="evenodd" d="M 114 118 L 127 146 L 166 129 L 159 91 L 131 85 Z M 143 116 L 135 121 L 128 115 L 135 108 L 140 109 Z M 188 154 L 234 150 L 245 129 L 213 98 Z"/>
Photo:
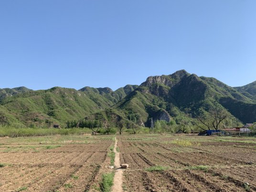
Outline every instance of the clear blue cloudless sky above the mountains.
<path fill-rule="evenodd" d="M 256 81 L 256 0 L 0 0 L 0 88 Z"/>

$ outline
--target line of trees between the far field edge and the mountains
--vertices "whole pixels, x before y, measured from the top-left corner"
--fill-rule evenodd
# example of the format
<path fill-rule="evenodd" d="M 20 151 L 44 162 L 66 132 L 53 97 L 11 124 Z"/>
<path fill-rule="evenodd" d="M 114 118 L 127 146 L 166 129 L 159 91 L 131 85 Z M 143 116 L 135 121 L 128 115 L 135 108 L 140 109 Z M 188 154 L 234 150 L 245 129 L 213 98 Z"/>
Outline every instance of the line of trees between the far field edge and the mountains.
<path fill-rule="evenodd" d="M 66 128 L 90 128 L 93 134 L 97 134 L 100 131 L 104 134 L 110 134 L 114 129 L 117 129 L 118 133 L 122 134 L 125 129 L 130 129 L 133 134 L 136 134 L 139 128 L 141 128 L 140 122 L 142 122 L 142 120 L 138 115 L 129 113 L 128 119 L 115 116 L 101 120 L 84 118 L 80 121 L 67 121 Z M 171 119 L 170 122 L 156 120 L 154 121 L 154 128 L 152 130 L 149 129 L 149 131 L 154 133 L 191 133 L 241 126 L 242 123 L 224 108 L 210 107 L 208 112 L 201 110 L 200 115 L 196 118 L 183 116 L 179 119 Z"/>

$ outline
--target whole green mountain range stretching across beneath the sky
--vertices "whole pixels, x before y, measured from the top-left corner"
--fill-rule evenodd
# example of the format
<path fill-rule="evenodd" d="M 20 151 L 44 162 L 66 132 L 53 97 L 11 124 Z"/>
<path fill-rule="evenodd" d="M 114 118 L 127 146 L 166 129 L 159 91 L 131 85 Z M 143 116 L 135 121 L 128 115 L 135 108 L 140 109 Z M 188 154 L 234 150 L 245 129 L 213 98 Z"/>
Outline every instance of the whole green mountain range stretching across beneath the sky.
<path fill-rule="evenodd" d="M 241 123 L 256 122 L 256 81 L 231 87 L 212 77 L 189 74 L 150 76 L 141 85 L 112 89 L 85 86 L 79 90 L 53 87 L 0 89 L 0 124 L 14 127 L 51 127 L 85 117 L 114 114 L 149 126 L 155 120 L 194 119 L 219 106 Z"/>

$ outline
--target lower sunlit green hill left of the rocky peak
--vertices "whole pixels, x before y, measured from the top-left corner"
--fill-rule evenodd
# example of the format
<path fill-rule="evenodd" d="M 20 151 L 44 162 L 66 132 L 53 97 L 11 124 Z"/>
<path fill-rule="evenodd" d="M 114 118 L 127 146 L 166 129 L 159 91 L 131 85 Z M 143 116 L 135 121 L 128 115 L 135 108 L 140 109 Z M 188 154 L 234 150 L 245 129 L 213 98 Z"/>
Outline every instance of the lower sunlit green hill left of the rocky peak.
<path fill-rule="evenodd" d="M 113 103 L 98 94 L 53 87 L 6 97 L 0 105 L 10 124 L 15 121 L 26 126 L 52 126 L 54 123 L 64 126 L 67 120 L 84 118 Z"/>

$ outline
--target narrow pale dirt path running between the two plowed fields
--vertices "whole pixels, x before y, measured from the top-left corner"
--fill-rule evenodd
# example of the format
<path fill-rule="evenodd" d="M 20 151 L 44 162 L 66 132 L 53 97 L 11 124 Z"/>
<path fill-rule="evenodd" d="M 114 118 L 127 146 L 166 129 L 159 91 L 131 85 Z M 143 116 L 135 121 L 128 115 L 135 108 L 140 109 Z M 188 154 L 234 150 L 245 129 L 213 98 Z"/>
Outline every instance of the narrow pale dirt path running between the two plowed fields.
<path fill-rule="evenodd" d="M 115 169 L 116 173 L 114 176 L 114 185 L 112 187 L 112 192 L 122 192 L 122 184 L 123 184 L 123 170 L 120 168 L 120 155 L 119 152 L 117 152 L 117 138 L 115 142 L 115 148 L 114 152 L 116 153 L 115 155 Z"/>

